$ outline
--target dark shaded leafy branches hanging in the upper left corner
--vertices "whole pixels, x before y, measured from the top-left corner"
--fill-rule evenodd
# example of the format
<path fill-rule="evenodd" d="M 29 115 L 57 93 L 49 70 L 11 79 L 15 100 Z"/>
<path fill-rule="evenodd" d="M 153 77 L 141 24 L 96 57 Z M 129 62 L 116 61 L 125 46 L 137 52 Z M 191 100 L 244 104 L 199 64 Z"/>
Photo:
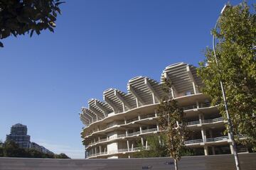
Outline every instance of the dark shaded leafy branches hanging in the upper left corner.
<path fill-rule="evenodd" d="M 60 13 L 60 0 L 0 0 L 0 39 L 10 35 L 24 35 L 56 26 L 57 12 Z M 0 47 L 4 47 L 0 42 Z"/>

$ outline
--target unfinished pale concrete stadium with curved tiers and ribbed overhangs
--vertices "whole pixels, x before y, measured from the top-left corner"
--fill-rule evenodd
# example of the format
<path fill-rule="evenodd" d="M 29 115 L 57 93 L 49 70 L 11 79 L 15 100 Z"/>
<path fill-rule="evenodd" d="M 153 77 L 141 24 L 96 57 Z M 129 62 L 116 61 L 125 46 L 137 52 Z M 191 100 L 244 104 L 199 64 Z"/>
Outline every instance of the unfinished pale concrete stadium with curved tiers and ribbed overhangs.
<path fill-rule="evenodd" d="M 107 89 L 103 100 L 90 99 L 88 108 L 82 108 L 80 120 L 83 128 L 82 143 L 87 158 L 128 158 L 139 152 L 138 141 L 147 148 L 147 135 L 159 135 L 156 107 L 164 91 L 164 78 L 172 83 L 171 96 L 183 108 L 191 136 L 185 144 L 195 154 L 228 154 L 231 141 L 223 135 L 225 121 L 217 106 L 199 89 L 201 79 L 196 67 L 186 63 L 171 64 L 158 82 L 148 77 L 134 77 L 127 84 L 127 93 Z M 247 152 L 245 148 L 238 148 Z"/>

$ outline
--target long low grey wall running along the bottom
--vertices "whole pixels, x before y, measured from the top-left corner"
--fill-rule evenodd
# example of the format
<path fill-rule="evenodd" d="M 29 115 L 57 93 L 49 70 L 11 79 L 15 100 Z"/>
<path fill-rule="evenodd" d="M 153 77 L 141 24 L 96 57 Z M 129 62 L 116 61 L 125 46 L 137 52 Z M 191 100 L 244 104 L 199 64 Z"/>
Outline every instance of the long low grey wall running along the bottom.
<path fill-rule="evenodd" d="M 239 154 L 242 170 L 256 169 L 256 153 Z M 233 155 L 183 157 L 178 162 L 180 170 L 234 170 Z M 29 159 L 0 158 L 1 170 L 96 170 L 96 169 L 174 169 L 169 158 L 147 159 Z"/>

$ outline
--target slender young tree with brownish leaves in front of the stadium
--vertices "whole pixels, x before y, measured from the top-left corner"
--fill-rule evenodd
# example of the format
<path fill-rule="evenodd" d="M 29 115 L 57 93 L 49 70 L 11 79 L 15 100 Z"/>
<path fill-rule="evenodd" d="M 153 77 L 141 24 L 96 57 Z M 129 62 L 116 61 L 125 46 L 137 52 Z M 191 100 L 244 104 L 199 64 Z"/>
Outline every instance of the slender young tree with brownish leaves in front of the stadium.
<path fill-rule="evenodd" d="M 171 98 L 171 82 L 164 80 L 164 92 L 166 95 L 161 99 L 157 108 L 159 115 L 159 129 L 166 135 L 166 146 L 169 156 L 174 159 L 175 169 L 178 169 L 178 160 L 181 159 L 182 148 L 185 140 L 184 113 L 178 107 L 177 101 Z"/>

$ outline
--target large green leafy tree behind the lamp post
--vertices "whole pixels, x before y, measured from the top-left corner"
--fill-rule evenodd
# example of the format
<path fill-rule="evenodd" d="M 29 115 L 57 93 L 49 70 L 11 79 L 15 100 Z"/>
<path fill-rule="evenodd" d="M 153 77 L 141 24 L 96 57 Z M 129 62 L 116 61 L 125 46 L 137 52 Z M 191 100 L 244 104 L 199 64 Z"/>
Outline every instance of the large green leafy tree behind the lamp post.
<path fill-rule="evenodd" d="M 256 149 L 256 4 L 251 10 L 246 2 L 225 9 L 212 33 L 218 38 L 215 62 L 213 50 L 206 48 L 206 60 L 200 62 L 198 75 L 202 91 L 213 105 L 221 101 L 219 110 L 226 118 L 220 80 L 225 86 L 228 109 L 235 134 L 245 135 L 237 141 Z M 251 10 L 251 11 L 250 11 Z M 228 127 L 227 127 L 228 128 Z M 238 139 L 237 139 L 238 140 Z"/>

